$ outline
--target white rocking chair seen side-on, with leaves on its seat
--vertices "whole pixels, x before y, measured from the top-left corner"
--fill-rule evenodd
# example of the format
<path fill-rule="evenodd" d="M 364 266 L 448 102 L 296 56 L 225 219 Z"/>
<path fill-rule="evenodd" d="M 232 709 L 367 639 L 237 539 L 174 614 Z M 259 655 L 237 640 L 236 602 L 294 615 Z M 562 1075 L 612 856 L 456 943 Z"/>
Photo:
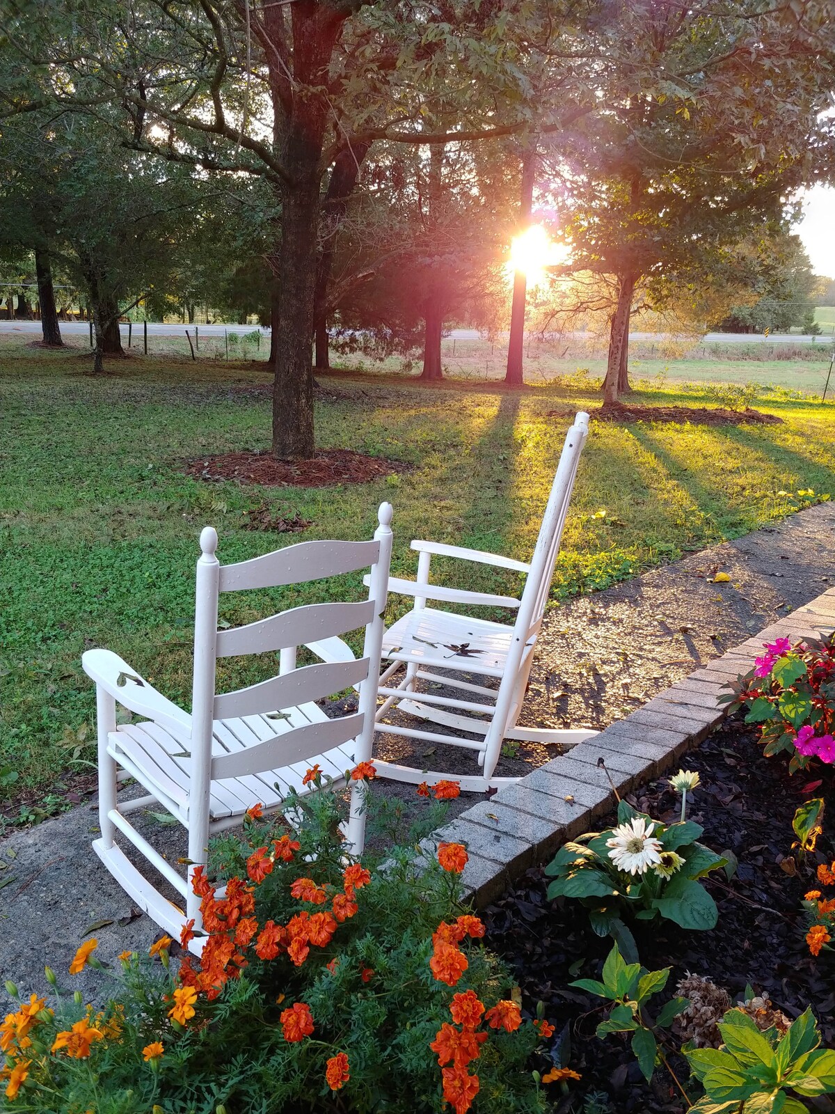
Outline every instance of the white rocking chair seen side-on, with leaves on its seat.
<path fill-rule="evenodd" d="M 380 677 L 379 692 L 384 701 L 377 709 L 377 731 L 425 743 L 445 743 L 475 751 L 483 773 L 461 775 L 439 773 L 375 758 L 374 766 L 380 776 L 406 782 L 454 779 L 462 790 L 484 792 L 488 788 L 518 780 L 493 776 L 505 739 L 560 743 L 569 747 L 597 734 L 596 731 L 551 731 L 517 726 L 548 602 L 577 466 L 588 432 L 589 416 L 580 412 L 566 437 L 530 565 L 510 557 L 464 549 L 460 546 L 413 541 L 412 549 L 416 549 L 420 554 L 416 582 L 396 578 L 389 580 L 390 593 L 414 596 L 415 599 L 412 610 L 397 619 L 383 637 L 383 656 L 392 664 L 383 670 Z M 433 554 L 527 573 L 521 599 L 430 584 L 430 560 Z M 513 626 L 490 623 L 428 607 L 428 599 L 470 606 L 514 608 L 517 618 Z M 444 671 L 442 675 L 432 672 L 439 668 Z M 400 684 L 394 686 L 390 681 L 400 670 L 404 670 L 405 673 Z M 491 688 L 473 684 L 471 681 L 453 678 L 449 676 L 449 671 L 494 677 L 499 680 L 499 686 Z M 419 680 L 434 682 L 448 691 L 460 691 L 461 696 L 435 695 L 434 692 L 426 692 L 425 686 L 424 690 L 418 691 L 415 686 Z M 468 700 L 469 694 L 479 696 L 480 701 L 477 702 L 472 697 Z M 462 737 L 460 734 L 450 734 L 439 729 L 424 731 L 387 723 L 385 716 L 392 707 L 422 720 L 433 721 L 440 729 L 451 727 L 455 732 L 463 731 L 477 737 Z"/>

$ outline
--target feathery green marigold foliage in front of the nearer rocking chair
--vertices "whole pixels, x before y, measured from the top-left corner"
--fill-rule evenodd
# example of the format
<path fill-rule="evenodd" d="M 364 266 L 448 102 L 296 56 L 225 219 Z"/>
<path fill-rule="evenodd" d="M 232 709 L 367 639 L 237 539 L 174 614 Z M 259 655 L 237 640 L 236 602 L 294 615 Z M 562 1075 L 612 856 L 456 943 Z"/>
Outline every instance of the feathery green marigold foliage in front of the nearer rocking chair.
<path fill-rule="evenodd" d="M 243 840 L 227 834 L 213 848 L 213 883 L 245 880 L 259 927 L 269 920 L 286 926 L 299 912 L 313 916 L 331 908 L 294 898 L 291 888 L 299 877 L 312 879 L 328 901 L 347 889 L 351 860 L 338 834 L 336 797 L 323 792 L 294 807 L 301 824 L 292 838 L 299 848 L 291 861 L 276 857 L 262 881 L 250 880 L 252 871 L 247 877 L 248 860 L 286 834 L 281 821 L 248 820 Z M 391 832 L 397 817 L 392 807 L 382 811 Z M 436 820 L 432 813 L 430 822 Z M 181 1024 L 171 1017 L 174 991 L 189 976 L 181 966 L 177 970 L 173 944 L 154 958 L 132 954 L 112 968 L 102 966 L 102 978 L 114 986 L 100 1013 L 85 1006 L 63 977 L 51 1003 L 22 999 L 0 1029 L 8 1053 L 4 1108 L 45 1114 L 436 1114 L 450 1108 L 444 1088 L 454 1088 L 458 1069 L 449 1064 L 451 1082 L 442 1079 L 430 1045 L 444 1024 L 465 1029 L 454 1024 L 453 996 L 472 989 L 488 1012 L 499 1003 L 515 1010 L 512 981 L 478 932 L 452 945 L 466 959 L 455 984 L 434 977 L 430 961 L 439 946 L 433 934 L 468 912 L 458 873 L 426 862 L 415 846 L 371 853 L 363 867 L 371 879 L 352 889 L 356 911 L 336 925 L 330 941 L 311 941 L 310 955 L 296 966 L 285 949 L 273 959 L 258 958 L 254 935 L 240 948 L 245 964 L 230 965 L 233 974 L 217 996 L 198 990 L 193 1016 L 186 1009 Z M 96 966 L 95 955 L 91 961 Z M 197 960 L 194 967 L 199 969 Z M 17 995 L 13 984 L 7 988 Z M 282 1015 L 296 1004 L 308 1007 L 313 1032 L 288 1039 Z M 521 1020 L 509 1032 L 488 1020 L 489 1013 L 475 1029 L 483 1038 L 477 1058 L 462 1068 L 478 1074 L 474 1111 L 541 1114 L 546 1094 L 529 1064 L 541 1040 L 537 1026 Z M 66 1042 L 73 1025 L 80 1040 L 53 1049 L 57 1035 L 63 1033 Z M 99 1035 L 90 1036 L 91 1030 Z M 338 1054 L 347 1057 L 348 1078 L 341 1081 L 336 1073 L 334 1089 L 327 1064 Z"/>

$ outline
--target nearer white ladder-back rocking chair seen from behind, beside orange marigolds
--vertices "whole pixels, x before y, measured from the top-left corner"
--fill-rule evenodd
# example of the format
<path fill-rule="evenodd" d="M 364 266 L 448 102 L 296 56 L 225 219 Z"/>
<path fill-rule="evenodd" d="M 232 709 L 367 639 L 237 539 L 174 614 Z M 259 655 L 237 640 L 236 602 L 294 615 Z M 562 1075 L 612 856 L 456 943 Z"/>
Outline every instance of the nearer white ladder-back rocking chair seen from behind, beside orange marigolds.
<path fill-rule="evenodd" d="M 92 847 L 132 900 L 167 932 L 178 937 L 190 918 L 200 928 L 200 899 L 190 886 L 195 867 L 205 864 L 209 836 L 240 823 L 261 803 L 279 811 L 291 788 L 304 794 L 306 770 L 318 763 L 337 785 L 358 762 L 371 759 L 380 672 L 382 614 L 392 550 L 392 508 L 380 507 L 373 541 L 303 541 L 263 557 L 220 565 L 217 534 L 200 534 L 197 563 L 195 658 L 191 714 L 184 712 L 107 649 L 82 658 L 96 682 L 98 719 L 99 827 Z M 370 568 L 371 590 L 360 603 L 294 607 L 245 626 L 218 631 L 220 592 L 267 588 L 318 580 Z M 365 627 L 363 657 L 356 659 L 338 636 Z M 296 668 L 296 647 L 305 645 L 325 664 Z M 247 688 L 215 693 L 218 657 L 281 651 L 277 676 Z M 315 704 L 343 688 L 360 692 L 358 710 L 330 719 Z M 119 703 L 143 722 L 117 726 Z M 117 800 L 119 770 L 134 776 L 149 795 Z M 363 848 L 365 817 L 362 782 L 354 783 L 347 844 Z M 161 804 L 188 831 L 188 877 L 175 870 L 134 828 L 128 815 Z M 130 862 L 116 842 L 125 836 L 151 867 L 177 890 L 185 909 L 169 902 Z M 203 938 L 191 941 L 199 951 Z"/>

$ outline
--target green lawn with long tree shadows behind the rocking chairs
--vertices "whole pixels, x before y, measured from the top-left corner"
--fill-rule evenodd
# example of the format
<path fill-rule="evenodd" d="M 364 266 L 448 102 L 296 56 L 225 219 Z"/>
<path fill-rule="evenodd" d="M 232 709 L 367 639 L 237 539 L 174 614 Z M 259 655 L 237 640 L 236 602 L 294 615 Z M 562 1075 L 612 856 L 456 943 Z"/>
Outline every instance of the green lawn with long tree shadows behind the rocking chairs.
<path fill-rule="evenodd" d="M 134 359 L 100 381 L 76 353 L 4 346 L 0 360 L 0 768 L 47 784 L 92 722 L 79 659 L 108 645 L 165 693 L 188 701 L 194 563 L 200 527 L 220 535 L 222 560 L 293 541 L 370 536 L 382 499 L 394 504 L 394 570 L 412 575 L 413 537 L 530 555 L 568 424 L 554 408 L 598 405 L 588 388 L 505 393 L 450 384 L 426 390 L 380 377 L 327 380 L 345 398 L 317 403 L 317 440 L 406 461 L 396 479 L 330 490 L 204 485 L 186 457 L 268 444 L 266 399 L 230 384 L 264 382 L 257 367 Z M 679 393 L 676 393 L 676 392 Z M 647 403 L 715 402 L 654 384 Z M 733 537 L 796 508 L 777 495 L 835 494 L 835 405 L 770 397 L 778 427 L 595 424 L 577 482 L 553 599 L 605 587 L 645 567 Z M 243 529 L 267 504 L 313 525 L 301 535 Z M 606 508 L 606 518 L 595 514 Z M 463 586 L 515 589 L 513 574 L 465 568 Z M 444 570 L 439 563 L 439 570 Z M 336 592 L 336 586 L 327 586 Z M 362 592 L 358 577 L 351 590 Z M 250 619 L 269 594 L 225 602 Z M 283 606 L 321 598 L 287 589 Z M 258 663 L 225 671 L 254 680 Z M 91 759 L 86 750 L 82 758 Z M 0 790 L 0 793 L 2 791 Z"/>

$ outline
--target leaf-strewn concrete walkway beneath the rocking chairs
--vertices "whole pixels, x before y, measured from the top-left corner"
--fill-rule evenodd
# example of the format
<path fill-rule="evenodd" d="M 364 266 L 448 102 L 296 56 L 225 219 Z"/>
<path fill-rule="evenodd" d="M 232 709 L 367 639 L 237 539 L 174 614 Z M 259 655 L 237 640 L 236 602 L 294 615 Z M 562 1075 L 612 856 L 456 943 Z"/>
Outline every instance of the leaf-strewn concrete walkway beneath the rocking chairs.
<path fill-rule="evenodd" d="M 730 580 L 710 583 L 717 570 Z M 833 586 L 835 506 L 824 504 L 573 600 L 549 614 L 527 719 L 606 726 Z M 503 761 L 524 774 L 551 756 L 543 747 L 527 763 Z M 461 799 L 462 809 L 471 804 Z M 144 824 L 170 858 L 184 853 L 178 828 Z M 90 801 L 0 842 L 0 975 L 27 995 L 46 989 L 47 962 L 65 986 L 89 998 L 107 993 L 100 974 L 66 975 L 91 925 L 108 962 L 159 935 L 92 853 L 97 831 Z"/>

